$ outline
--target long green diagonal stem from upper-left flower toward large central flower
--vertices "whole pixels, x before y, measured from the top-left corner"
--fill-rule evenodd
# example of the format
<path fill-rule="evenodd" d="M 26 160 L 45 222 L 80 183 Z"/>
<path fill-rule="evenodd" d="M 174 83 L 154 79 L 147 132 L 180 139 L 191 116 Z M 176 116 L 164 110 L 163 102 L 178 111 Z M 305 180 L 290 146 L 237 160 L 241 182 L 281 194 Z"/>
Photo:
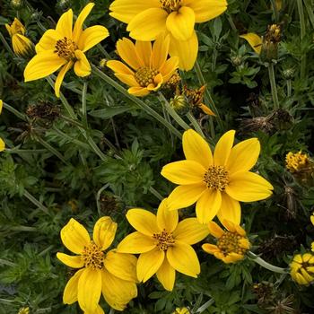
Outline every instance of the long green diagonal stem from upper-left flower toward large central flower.
<path fill-rule="evenodd" d="M 116 83 L 114 80 L 112 80 L 108 75 L 104 74 L 100 71 L 95 65 L 92 65 L 92 72 L 93 74 L 97 75 L 102 79 L 104 82 L 109 83 L 112 87 L 114 87 L 118 92 L 121 92 L 123 95 L 126 96 L 129 100 L 132 100 L 135 102 L 136 105 L 138 105 L 141 109 L 144 109 L 146 113 L 151 115 L 153 118 L 155 118 L 157 121 L 161 122 L 163 126 L 166 126 L 170 132 L 172 132 L 174 135 L 181 138 L 181 133 L 172 126 L 165 118 L 162 118 L 159 113 L 157 113 L 154 109 L 149 107 L 144 101 L 139 100 L 135 96 L 129 94 L 125 88 L 123 88 L 120 84 Z"/>

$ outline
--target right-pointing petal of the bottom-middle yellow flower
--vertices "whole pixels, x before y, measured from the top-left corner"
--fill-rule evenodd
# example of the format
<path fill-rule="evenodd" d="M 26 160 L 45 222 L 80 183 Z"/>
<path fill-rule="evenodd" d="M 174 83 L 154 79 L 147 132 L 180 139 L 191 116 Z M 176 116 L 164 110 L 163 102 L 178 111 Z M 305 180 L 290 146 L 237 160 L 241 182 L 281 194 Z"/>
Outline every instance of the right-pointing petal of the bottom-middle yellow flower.
<path fill-rule="evenodd" d="M 196 218 L 187 218 L 179 222 L 173 237 L 175 240 L 192 245 L 205 239 L 208 234 L 209 230 L 205 224 L 199 223 Z"/>

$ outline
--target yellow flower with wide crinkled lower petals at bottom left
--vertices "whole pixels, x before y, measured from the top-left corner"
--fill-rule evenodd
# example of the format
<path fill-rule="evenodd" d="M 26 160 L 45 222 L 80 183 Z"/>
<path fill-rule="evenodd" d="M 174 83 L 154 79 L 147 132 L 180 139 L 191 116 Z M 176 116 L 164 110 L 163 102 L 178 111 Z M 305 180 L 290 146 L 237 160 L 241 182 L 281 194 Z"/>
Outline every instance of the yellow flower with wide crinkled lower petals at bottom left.
<path fill-rule="evenodd" d="M 109 306 L 124 310 L 137 295 L 136 257 L 108 249 L 115 238 L 117 223 L 110 217 L 100 218 L 94 226 L 92 240 L 83 225 L 73 218 L 61 230 L 61 240 L 66 249 L 77 256 L 57 253 L 66 266 L 80 268 L 65 286 L 65 304 L 79 302 L 85 313 L 101 314 L 98 304 L 100 293 Z"/>

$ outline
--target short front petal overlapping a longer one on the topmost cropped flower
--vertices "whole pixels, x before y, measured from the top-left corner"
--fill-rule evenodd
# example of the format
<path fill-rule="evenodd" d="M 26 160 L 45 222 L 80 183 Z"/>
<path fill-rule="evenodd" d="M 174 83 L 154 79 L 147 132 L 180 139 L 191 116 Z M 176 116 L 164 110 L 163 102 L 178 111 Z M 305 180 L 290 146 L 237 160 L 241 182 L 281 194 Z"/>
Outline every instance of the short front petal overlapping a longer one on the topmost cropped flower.
<path fill-rule="evenodd" d="M 179 11 L 171 12 L 166 26 L 175 39 L 188 40 L 194 31 L 195 14 L 188 6 L 181 6 Z"/>

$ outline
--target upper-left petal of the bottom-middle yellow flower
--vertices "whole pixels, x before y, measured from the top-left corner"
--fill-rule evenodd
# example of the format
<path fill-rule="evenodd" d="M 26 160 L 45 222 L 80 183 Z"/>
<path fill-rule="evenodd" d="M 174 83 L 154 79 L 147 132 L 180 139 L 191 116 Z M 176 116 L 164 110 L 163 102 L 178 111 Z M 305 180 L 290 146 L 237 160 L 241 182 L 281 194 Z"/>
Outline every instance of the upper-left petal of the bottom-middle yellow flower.
<path fill-rule="evenodd" d="M 148 237 L 160 232 L 156 215 L 144 209 L 129 209 L 126 213 L 126 219 L 136 231 L 140 231 Z"/>

